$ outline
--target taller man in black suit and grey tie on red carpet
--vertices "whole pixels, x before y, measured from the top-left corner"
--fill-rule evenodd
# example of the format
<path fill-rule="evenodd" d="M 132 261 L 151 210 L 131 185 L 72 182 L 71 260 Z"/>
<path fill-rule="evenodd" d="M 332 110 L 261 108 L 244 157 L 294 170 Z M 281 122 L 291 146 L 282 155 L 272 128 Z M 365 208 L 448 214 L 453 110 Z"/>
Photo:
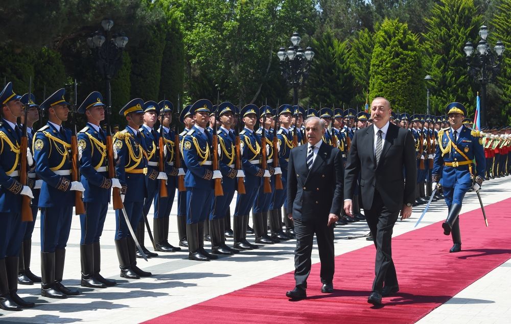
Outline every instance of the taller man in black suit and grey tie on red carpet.
<path fill-rule="evenodd" d="M 367 299 L 374 305 L 381 304 L 382 295 L 399 290 L 392 262 L 392 228 L 400 211 L 402 220 L 410 217 L 417 180 L 413 134 L 389 123 L 391 111 L 385 98 L 373 100 L 374 124 L 355 133 L 344 177 L 344 211 L 351 216 L 351 199 L 361 176 L 364 214 L 376 246 L 376 277 Z"/>

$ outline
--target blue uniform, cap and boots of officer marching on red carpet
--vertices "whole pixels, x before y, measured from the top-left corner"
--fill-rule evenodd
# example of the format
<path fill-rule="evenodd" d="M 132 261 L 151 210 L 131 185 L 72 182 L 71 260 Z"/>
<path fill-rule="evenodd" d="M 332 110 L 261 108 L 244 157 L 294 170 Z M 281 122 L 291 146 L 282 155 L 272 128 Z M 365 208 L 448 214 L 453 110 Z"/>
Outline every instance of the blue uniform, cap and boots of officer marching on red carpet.
<path fill-rule="evenodd" d="M 458 102 L 447 105 L 446 114 L 449 115 L 453 112 L 467 114 L 465 107 Z M 470 188 L 476 185 L 481 186 L 484 181 L 485 164 L 479 131 L 461 125 L 459 129 L 451 127 L 438 132 L 438 146 L 436 147 L 432 178 L 433 183 L 442 184 L 449 208 L 449 215 L 442 227 L 445 235 L 452 234 L 454 245 L 450 252 L 461 250 L 458 218 L 461 203 Z M 479 190 L 479 188 L 474 189 Z"/>

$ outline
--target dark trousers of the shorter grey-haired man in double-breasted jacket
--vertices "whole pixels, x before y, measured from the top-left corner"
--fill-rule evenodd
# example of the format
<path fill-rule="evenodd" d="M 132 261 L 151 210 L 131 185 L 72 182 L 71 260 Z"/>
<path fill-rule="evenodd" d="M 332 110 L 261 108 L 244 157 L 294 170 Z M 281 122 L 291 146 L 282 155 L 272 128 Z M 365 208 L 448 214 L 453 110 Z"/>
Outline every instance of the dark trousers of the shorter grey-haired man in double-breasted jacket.
<path fill-rule="evenodd" d="M 296 286 L 307 288 L 311 272 L 311 253 L 314 234 L 318 243 L 321 262 L 321 283 L 331 284 L 334 278 L 334 226 L 327 226 L 327 219 L 311 221 L 294 220 L 296 248 L 294 250 L 294 280 Z"/>

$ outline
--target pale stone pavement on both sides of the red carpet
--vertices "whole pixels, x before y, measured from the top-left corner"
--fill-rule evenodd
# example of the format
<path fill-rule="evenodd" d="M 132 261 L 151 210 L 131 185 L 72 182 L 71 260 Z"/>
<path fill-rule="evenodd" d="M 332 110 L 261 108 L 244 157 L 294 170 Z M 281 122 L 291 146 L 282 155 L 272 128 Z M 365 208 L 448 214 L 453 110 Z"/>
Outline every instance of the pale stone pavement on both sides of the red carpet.
<path fill-rule="evenodd" d="M 511 177 L 486 181 L 480 191 L 485 204 L 511 197 Z M 475 193 L 468 193 L 461 213 L 478 209 L 479 201 Z M 414 229 L 415 222 L 424 206 L 414 207 L 409 221 L 398 221 L 394 227 L 394 236 Z M 234 203 L 231 205 L 234 210 Z M 152 215 L 152 211 L 150 212 Z M 445 219 L 447 208 L 444 201 L 433 202 L 430 212 L 420 226 Z M 169 242 L 177 245 L 175 207 L 171 214 Z M 489 217 L 492 225 L 491 215 Z M 152 226 L 152 221 L 150 219 Z M 482 217 L 481 217 L 482 225 Z M 38 246 L 39 223 L 33 235 L 33 257 L 31 269 L 40 274 Z M 18 293 L 37 303 L 33 309 L 20 312 L 0 311 L 2 323 L 71 323 L 71 322 L 124 322 L 134 323 L 148 320 L 204 300 L 225 294 L 294 269 L 294 242 L 264 246 L 258 250 L 245 251 L 236 256 L 220 257 L 211 262 L 195 262 L 187 259 L 188 250 L 176 253 L 159 253 L 159 257 L 149 262 L 139 259 L 138 266 L 151 271 L 153 276 L 140 280 L 126 280 L 119 277 L 119 263 L 113 242 L 115 217 L 113 211 L 107 215 L 102 236 L 102 271 L 105 277 L 118 280 L 119 285 L 105 289 L 80 287 L 80 222 L 74 216 L 71 235 L 67 244 L 64 269 L 64 285 L 77 286 L 83 292 L 80 296 L 67 299 L 50 299 L 40 296 L 40 285 L 19 286 Z M 484 226 L 481 226 L 484 230 Z M 364 238 L 347 240 L 347 236 L 368 233 L 364 222 L 355 222 L 335 228 L 335 253 L 343 254 L 363 246 L 373 244 Z M 438 228 L 438 236 L 443 236 Z M 248 236 L 253 243 L 253 235 Z M 232 244 L 228 240 L 227 244 Z M 146 235 L 145 245 L 151 243 Z M 205 247 L 210 247 L 205 242 Z M 449 249 L 451 246 L 446 246 Z M 313 262 L 319 262 L 317 248 L 313 250 Z M 341 273 L 342 269 L 337 269 Z M 364 275 L 373 276 L 373 269 L 367 269 Z M 289 283 L 289 288 L 294 286 Z M 366 287 L 369 289 L 370 287 Z M 319 289 L 319 287 L 318 287 Z M 511 303 L 508 292 L 511 290 L 511 261 L 507 261 L 495 270 L 483 276 L 466 289 L 451 298 L 446 304 L 433 310 L 422 318 L 420 323 L 459 322 L 459 323 L 502 323 L 511 322 Z M 282 292 L 283 298 L 285 291 Z M 369 307 L 369 305 L 368 305 Z"/>

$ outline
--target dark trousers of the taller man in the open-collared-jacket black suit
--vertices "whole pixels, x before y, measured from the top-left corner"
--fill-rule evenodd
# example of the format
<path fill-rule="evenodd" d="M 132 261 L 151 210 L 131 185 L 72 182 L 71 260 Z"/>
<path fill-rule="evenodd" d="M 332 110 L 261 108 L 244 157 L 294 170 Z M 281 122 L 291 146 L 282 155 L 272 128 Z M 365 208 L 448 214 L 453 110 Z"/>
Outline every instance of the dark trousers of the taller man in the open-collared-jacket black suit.
<path fill-rule="evenodd" d="M 392 229 L 398 220 L 399 211 L 389 211 L 384 205 L 380 193 L 375 190 L 373 206 L 364 210 L 367 225 L 376 246 L 375 280 L 373 291 L 381 292 L 383 285 L 398 284 L 396 267 L 392 261 Z"/>

